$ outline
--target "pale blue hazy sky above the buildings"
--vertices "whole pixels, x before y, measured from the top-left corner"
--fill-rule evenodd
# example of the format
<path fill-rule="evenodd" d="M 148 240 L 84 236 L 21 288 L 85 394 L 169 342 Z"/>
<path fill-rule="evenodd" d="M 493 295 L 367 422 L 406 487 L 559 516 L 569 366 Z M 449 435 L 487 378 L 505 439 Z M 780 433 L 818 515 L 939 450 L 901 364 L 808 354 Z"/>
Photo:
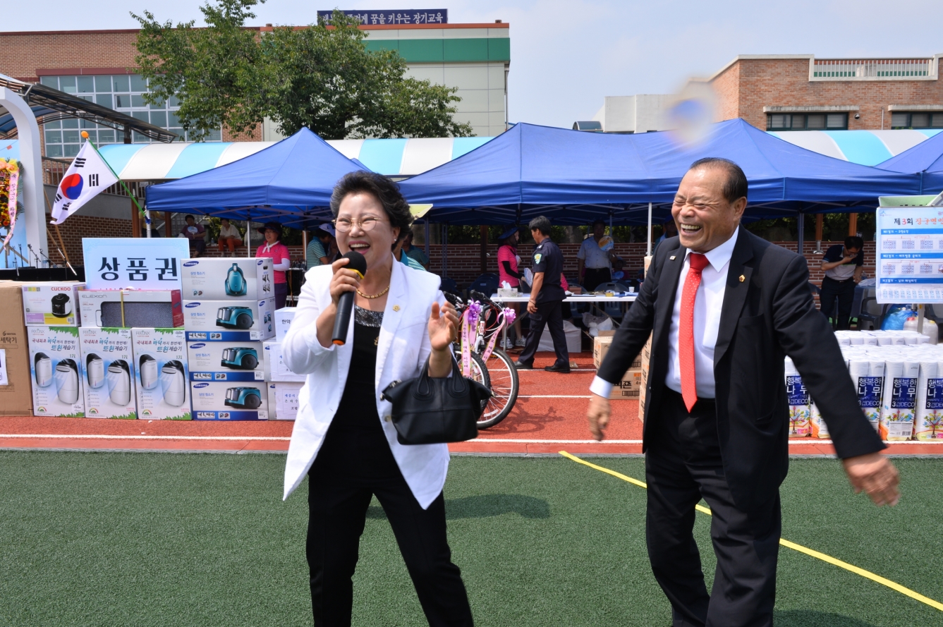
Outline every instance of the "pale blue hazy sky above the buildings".
<path fill-rule="evenodd" d="M 157 20 L 197 20 L 197 0 L 67 0 L 4 8 L 5 31 L 134 28 L 129 12 Z M 736 55 L 819 58 L 928 58 L 943 37 L 923 22 L 939 0 L 267 0 L 251 25 L 301 25 L 317 10 L 447 8 L 450 23 L 510 24 L 508 118 L 571 127 L 589 120 L 605 96 L 676 93 L 689 77 L 716 73 Z M 922 16 L 922 17 L 921 17 Z M 928 27 L 920 29 L 921 24 Z"/>

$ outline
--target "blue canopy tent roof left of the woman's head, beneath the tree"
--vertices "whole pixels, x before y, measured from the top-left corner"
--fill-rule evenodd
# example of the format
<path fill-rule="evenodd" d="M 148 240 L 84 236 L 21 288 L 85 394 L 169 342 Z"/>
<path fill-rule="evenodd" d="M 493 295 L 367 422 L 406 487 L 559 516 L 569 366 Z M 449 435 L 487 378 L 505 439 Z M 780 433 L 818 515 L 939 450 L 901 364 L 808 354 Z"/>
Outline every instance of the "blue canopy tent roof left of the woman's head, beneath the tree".
<path fill-rule="evenodd" d="M 146 207 L 301 228 L 330 219 L 331 191 L 355 170 L 366 168 L 302 128 L 249 157 L 148 187 Z"/>

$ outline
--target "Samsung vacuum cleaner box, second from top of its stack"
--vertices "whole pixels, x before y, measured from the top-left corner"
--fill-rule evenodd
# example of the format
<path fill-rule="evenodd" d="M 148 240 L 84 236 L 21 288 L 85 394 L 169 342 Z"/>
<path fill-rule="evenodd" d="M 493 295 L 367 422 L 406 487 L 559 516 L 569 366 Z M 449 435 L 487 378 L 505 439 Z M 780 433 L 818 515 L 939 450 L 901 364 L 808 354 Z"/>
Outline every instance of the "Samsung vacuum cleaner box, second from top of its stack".
<path fill-rule="evenodd" d="M 234 340 L 261 340 L 275 335 L 274 299 L 261 301 L 184 301 L 187 331 L 241 331 Z"/>

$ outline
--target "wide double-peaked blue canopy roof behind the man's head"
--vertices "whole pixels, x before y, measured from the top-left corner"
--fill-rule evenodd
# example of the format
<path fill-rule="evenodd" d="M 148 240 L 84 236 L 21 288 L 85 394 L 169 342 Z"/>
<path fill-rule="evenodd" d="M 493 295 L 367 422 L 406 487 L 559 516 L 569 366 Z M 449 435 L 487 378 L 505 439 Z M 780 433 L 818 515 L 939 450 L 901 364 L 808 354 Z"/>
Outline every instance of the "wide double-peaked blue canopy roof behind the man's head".
<path fill-rule="evenodd" d="M 649 203 L 667 218 L 690 164 L 726 157 L 750 181 L 748 218 L 875 206 L 879 195 L 918 193 L 918 176 L 825 157 L 779 140 L 743 120 L 714 124 L 706 140 L 683 145 L 670 132 L 604 135 L 517 124 L 503 135 L 401 188 L 431 203 L 433 222 L 555 223 L 649 220 Z"/>

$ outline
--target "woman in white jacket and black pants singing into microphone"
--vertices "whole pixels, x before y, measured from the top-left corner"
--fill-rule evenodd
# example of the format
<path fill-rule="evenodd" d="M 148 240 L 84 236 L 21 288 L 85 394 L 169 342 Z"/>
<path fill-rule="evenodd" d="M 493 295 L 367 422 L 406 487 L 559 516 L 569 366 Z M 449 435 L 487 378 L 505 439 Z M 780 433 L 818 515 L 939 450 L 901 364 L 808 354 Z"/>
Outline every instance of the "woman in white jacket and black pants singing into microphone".
<path fill-rule="evenodd" d="M 357 548 L 373 495 L 387 513 L 430 625 L 472 625 L 461 573 L 452 563 L 442 487 L 445 444 L 405 446 L 396 439 L 390 382 L 452 371 L 458 317 L 435 274 L 394 263 L 392 248 L 412 223 L 409 206 L 389 178 L 346 174 L 331 210 L 342 254 L 367 259 L 357 278 L 347 259 L 307 272 L 283 343 L 286 365 L 307 374 L 285 469 L 285 497 L 308 476 L 307 563 L 317 627 L 351 624 Z M 331 336 L 339 297 L 354 292 L 347 341 Z"/>

